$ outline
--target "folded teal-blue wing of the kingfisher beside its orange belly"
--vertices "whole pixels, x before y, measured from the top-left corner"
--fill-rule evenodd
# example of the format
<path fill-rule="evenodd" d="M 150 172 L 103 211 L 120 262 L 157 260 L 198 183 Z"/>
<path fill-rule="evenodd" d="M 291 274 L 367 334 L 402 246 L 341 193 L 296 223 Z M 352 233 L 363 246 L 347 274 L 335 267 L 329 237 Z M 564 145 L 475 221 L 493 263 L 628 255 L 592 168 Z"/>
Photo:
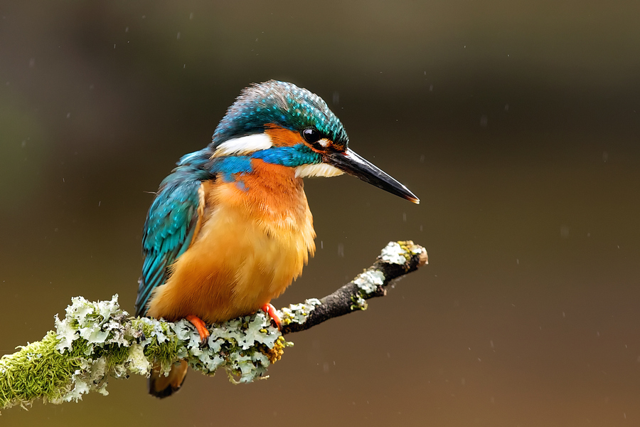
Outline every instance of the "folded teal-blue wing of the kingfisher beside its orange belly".
<path fill-rule="evenodd" d="M 142 276 L 136 315 L 145 315 L 151 292 L 169 278 L 169 267 L 191 245 L 203 214 L 199 179 L 169 175 L 161 184 L 144 223 Z"/>

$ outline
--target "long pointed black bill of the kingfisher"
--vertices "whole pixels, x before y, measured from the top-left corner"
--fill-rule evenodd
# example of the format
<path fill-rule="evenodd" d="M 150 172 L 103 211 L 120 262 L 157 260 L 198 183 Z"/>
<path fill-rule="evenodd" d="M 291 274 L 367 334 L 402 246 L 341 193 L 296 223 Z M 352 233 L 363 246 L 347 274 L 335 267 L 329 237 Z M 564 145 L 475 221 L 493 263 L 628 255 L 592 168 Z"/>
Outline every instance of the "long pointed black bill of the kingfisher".
<path fill-rule="evenodd" d="M 351 149 L 346 149 L 343 153 L 325 154 L 325 162 L 331 166 L 337 167 L 347 174 L 356 176 L 369 184 L 375 185 L 380 189 L 389 191 L 391 194 L 407 199 L 415 204 L 420 203 L 415 194 L 400 182 L 393 179 L 389 174 L 383 172 L 382 169 L 360 157 Z"/>

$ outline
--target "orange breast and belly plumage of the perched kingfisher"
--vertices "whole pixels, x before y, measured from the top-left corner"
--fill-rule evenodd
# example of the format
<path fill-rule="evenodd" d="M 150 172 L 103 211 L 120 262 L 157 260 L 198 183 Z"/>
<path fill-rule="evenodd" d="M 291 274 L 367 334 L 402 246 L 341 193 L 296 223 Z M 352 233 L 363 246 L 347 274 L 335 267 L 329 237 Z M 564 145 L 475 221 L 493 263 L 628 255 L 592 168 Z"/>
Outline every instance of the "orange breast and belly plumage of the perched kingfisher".
<path fill-rule="evenodd" d="M 238 181 L 204 181 L 191 246 L 154 291 L 150 316 L 221 322 L 256 312 L 302 273 L 314 228 L 302 179 L 252 161 Z"/>

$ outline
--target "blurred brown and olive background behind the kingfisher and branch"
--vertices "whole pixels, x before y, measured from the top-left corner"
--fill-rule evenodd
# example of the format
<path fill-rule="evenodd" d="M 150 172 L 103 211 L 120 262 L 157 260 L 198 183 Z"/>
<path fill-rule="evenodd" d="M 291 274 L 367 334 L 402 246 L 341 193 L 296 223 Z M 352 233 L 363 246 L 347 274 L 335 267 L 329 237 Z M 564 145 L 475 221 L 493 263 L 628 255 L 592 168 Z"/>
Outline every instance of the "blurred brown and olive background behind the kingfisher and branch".
<path fill-rule="evenodd" d="M 240 90 L 318 93 L 420 196 L 309 180 L 319 251 L 277 306 L 390 240 L 430 265 L 289 337 L 271 378 L 145 379 L 3 426 L 640 425 L 637 1 L 3 1 L 0 350 L 70 298 L 132 311 L 161 179 Z"/>

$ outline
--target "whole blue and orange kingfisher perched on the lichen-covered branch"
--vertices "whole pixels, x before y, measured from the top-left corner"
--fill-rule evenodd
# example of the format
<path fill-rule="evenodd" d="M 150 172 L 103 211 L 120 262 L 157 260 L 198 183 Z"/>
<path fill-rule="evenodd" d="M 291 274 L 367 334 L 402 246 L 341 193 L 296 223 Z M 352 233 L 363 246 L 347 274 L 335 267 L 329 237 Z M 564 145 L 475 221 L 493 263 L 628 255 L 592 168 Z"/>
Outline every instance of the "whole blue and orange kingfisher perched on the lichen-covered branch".
<path fill-rule="evenodd" d="M 321 97 L 269 80 L 241 91 L 211 142 L 161 181 L 142 236 L 136 315 L 206 325 L 264 310 L 314 255 L 316 233 L 303 178 L 351 174 L 415 204 L 406 186 L 348 147 Z M 151 371 L 149 394 L 181 388 L 185 361 Z"/>

